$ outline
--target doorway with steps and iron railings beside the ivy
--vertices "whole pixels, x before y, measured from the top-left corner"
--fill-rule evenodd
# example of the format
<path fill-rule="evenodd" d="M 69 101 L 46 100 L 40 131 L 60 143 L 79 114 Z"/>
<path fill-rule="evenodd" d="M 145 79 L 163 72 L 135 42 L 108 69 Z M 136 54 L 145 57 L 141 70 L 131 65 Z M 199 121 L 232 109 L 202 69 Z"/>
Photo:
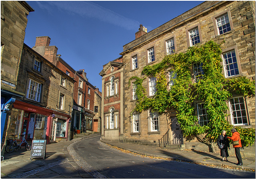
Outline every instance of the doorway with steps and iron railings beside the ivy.
<path fill-rule="evenodd" d="M 183 144 L 182 130 L 176 117 L 172 117 L 172 144 Z"/>

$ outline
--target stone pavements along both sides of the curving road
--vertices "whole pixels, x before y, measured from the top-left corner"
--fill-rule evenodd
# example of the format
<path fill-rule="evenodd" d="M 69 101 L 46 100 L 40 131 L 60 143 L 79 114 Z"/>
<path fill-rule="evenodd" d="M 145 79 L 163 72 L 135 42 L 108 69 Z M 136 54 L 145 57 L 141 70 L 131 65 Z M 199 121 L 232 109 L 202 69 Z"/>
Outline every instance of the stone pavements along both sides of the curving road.
<path fill-rule="evenodd" d="M 46 159 L 30 160 L 30 151 L 26 151 L 25 149 L 5 153 L 4 161 L 1 161 L 1 178 L 105 178 L 104 175 L 90 167 L 86 161 L 79 163 L 81 162 L 77 161 L 77 157 L 79 156 L 72 150 L 72 143 L 77 140 L 98 135 L 100 134 L 95 133 L 71 141 L 48 144 L 46 145 Z M 102 140 L 102 142 L 144 156 L 162 157 L 217 167 L 228 166 L 235 170 L 243 168 L 255 172 L 255 158 L 243 158 L 243 166 L 241 167 L 235 165 L 237 162 L 235 156 L 228 157 L 229 162 L 226 162 L 221 161 L 219 154 L 210 152 L 178 151 L 106 140 Z"/>

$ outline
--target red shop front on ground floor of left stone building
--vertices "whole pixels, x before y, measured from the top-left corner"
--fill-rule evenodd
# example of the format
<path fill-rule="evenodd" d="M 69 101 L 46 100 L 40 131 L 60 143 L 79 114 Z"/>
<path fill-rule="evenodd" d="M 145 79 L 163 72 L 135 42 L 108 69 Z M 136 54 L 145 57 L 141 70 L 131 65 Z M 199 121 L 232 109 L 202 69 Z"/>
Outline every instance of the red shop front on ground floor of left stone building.
<path fill-rule="evenodd" d="M 69 120 L 69 114 L 16 100 L 10 118 L 12 131 L 8 133 L 26 134 L 26 140 L 44 139 L 46 144 L 66 141 Z"/>

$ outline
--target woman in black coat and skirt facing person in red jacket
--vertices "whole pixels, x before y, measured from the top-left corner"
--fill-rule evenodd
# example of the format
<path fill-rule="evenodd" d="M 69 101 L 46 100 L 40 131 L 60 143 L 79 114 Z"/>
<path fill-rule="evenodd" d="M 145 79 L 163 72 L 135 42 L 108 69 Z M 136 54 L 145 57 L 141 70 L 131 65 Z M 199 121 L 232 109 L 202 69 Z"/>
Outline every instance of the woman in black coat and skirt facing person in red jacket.
<path fill-rule="evenodd" d="M 218 146 L 221 144 L 223 146 L 223 148 L 220 149 L 220 156 L 222 156 L 222 161 L 224 161 L 224 157 L 226 157 L 226 161 L 228 161 L 228 148 L 230 149 L 230 145 L 225 130 L 222 130 L 220 136 L 218 136 L 217 144 Z"/>

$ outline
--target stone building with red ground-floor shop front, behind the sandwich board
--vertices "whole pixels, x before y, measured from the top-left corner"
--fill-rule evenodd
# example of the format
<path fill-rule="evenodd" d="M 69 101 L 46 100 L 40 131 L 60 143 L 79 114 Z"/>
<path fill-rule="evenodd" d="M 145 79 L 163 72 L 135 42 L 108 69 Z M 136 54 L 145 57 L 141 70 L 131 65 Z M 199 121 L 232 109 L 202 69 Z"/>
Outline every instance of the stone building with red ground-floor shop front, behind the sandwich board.
<path fill-rule="evenodd" d="M 8 136 L 26 134 L 28 141 L 47 144 L 68 140 L 74 79 L 24 44 L 17 90 L 25 96 L 13 103 Z"/>

